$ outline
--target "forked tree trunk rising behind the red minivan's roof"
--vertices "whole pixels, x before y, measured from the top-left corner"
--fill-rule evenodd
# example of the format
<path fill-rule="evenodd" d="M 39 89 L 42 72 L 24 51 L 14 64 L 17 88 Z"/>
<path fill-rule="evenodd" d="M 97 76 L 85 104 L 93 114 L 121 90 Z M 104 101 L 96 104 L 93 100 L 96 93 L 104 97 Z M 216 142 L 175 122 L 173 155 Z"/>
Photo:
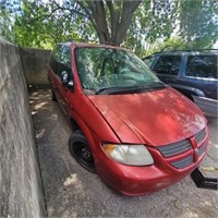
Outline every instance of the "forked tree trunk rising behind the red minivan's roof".
<path fill-rule="evenodd" d="M 142 0 L 76 1 L 86 12 L 97 32 L 100 44 L 120 46 L 126 36 L 132 16 Z M 106 7 L 110 16 L 107 17 Z"/>

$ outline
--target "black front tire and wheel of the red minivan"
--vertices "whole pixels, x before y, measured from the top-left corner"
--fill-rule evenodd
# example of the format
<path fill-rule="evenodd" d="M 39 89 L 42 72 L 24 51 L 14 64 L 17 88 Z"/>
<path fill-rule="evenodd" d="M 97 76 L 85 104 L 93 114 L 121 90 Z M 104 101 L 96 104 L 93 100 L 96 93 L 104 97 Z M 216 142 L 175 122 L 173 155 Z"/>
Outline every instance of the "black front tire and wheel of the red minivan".
<path fill-rule="evenodd" d="M 69 138 L 69 149 L 76 161 L 90 172 L 95 172 L 95 162 L 88 143 L 80 130 L 72 133 Z"/>

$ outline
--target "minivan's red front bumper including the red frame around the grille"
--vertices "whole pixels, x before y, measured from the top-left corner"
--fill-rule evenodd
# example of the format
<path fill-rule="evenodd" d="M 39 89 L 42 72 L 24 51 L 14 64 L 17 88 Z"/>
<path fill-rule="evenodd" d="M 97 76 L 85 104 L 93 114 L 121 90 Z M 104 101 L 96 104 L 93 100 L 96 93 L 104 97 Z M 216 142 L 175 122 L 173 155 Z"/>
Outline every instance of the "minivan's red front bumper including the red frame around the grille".
<path fill-rule="evenodd" d="M 155 160 L 154 165 L 145 167 L 118 164 L 101 150 L 96 158 L 96 170 L 99 177 L 117 192 L 130 196 L 144 195 L 182 180 L 199 166 L 208 149 L 207 129 L 204 140 L 199 143 L 199 150 L 201 147 L 204 147 L 203 153 L 196 153 L 195 148 L 177 156 L 177 159 L 183 159 L 187 155 L 193 156 L 193 162 L 182 168 L 175 167 L 174 156 L 165 158 L 156 147 L 148 148 Z"/>

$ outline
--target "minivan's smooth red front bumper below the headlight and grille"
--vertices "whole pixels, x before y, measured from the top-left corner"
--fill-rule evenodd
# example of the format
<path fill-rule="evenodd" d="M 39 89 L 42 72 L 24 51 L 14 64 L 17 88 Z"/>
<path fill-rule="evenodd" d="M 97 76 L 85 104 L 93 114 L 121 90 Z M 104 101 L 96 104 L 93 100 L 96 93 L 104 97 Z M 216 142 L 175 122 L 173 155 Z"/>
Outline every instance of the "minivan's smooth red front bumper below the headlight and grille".
<path fill-rule="evenodd" d="M 157 162 L 147 167 L 124 166 L 113 162 L 108 157 L 96 167 L 99 177 L 113 190 L 123 195 L 137 196 L 161 190 L 182 180 L 199 165 L 203 156 L 197 162 L 182 170 L 173 169 L 170 165 L 159 166 Z"/>

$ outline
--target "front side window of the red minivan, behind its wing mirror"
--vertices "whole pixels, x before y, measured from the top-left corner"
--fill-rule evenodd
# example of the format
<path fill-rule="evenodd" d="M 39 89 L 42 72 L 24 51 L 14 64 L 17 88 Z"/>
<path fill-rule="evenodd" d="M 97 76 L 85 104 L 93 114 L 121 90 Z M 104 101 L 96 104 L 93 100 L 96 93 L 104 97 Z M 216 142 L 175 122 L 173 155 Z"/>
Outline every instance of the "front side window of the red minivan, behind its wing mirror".
<path fill-rule="evenodd" d="M 59 52 L 57 53 L 57 59 L 59 62 L 57 69 L 57 75 L 61 77 L 61 73 L 65 71 L 69 75 L 69 81 L 72 80 L 70 49 L 65 46 L 61 46 Z"/>

